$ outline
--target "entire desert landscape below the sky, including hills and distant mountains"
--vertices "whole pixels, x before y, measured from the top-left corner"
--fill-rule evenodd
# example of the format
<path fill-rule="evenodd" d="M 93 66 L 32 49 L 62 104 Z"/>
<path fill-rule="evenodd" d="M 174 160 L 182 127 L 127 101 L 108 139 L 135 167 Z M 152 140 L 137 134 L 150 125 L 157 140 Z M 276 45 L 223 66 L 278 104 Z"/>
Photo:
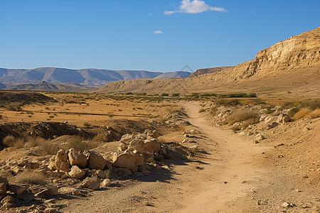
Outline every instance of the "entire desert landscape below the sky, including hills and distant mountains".
<path fill-rule="evenodd" d="M 320 212 L 320 28 L 192 74 L 0 71 L 1 212 Z"/>

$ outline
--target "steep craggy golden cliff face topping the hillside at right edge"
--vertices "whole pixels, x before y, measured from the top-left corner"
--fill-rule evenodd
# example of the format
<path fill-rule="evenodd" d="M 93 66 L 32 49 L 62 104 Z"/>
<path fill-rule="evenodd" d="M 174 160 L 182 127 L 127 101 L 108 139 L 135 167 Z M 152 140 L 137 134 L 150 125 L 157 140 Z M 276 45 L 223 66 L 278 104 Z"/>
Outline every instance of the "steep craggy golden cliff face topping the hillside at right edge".
<path fill-rule="evenodd" d="M 274 70 L 320 65 L 320 28 L 292 36 L 261 50 L 254 60 L 230 68 L 234 79 L 267 75 Z"/>

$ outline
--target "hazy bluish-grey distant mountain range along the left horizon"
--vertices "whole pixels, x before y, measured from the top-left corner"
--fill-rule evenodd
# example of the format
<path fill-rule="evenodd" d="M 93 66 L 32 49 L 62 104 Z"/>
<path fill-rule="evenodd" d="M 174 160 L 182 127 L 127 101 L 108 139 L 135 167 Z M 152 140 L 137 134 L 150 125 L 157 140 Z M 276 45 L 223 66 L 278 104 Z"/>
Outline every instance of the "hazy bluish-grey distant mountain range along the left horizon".
<path fill-rule="evenodd" d="M 39 67 L 32 70 L 0 68 L 0 89 L 69 90 L 100 87 L 111 82 L 137 79 L 184 78 L 191 72 L 149 72 L 145 70 L 70 70 Z"/>

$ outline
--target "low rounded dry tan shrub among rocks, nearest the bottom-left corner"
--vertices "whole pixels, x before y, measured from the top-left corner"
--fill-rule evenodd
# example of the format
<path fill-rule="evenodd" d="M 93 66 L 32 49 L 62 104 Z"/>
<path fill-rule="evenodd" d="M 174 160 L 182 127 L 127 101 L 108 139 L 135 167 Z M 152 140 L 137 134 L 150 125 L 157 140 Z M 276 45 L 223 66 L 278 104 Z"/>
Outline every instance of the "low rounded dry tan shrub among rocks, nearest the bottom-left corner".
<path fill-rule="evenodd" d="M 16 182 L 23 184 L 45 184 L 48 180 L 46 175 L 43 173 L 37 173 L 35 171 L 25 170 L 22 173 L 16 175 Z"/>

